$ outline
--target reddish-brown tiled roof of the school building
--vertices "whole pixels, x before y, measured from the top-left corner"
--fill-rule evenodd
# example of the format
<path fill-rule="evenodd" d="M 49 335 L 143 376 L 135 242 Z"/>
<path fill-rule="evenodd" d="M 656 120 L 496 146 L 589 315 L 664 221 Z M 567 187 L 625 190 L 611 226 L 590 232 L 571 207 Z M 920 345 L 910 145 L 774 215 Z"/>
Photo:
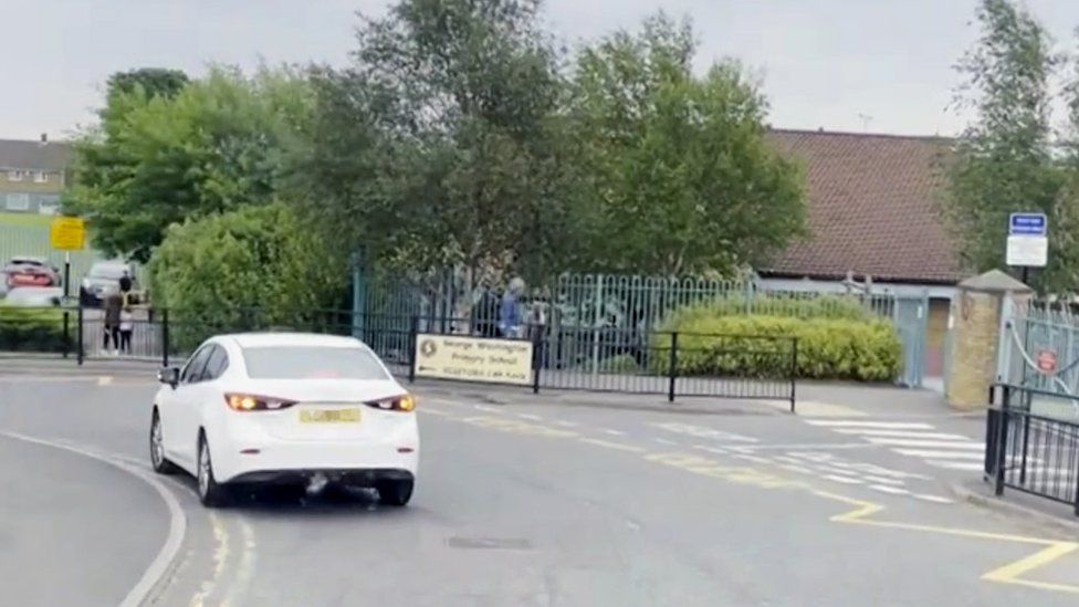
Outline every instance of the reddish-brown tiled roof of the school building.
<path fill-rule="evenodd" d="M 806 168 L 809 239 L 790 245 L 764 275 L 952 283 L 955 243 L 940 219 L 941 160 L 950 140 L 813 130 L 769 139 Z"/>

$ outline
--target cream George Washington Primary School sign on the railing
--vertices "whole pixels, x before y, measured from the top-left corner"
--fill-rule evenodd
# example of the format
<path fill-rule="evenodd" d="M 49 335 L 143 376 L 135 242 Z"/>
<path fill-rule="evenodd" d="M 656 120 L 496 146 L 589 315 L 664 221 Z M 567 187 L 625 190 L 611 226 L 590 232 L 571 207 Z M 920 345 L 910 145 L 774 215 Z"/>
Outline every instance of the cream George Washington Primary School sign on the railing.
<path fill-rule="evenodd" d="M 532 384 L 531 342 L 420 333 L 415 360 L 417 377 Z"/>

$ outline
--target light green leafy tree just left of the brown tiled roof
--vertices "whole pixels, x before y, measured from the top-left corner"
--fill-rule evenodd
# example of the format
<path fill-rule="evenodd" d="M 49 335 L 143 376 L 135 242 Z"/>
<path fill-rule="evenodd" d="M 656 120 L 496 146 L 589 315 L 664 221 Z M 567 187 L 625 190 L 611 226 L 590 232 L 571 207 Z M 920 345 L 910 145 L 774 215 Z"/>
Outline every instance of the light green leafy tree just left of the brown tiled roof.
<path fill-rule="evenodd" d="M 766 103 L 734 62 L 692 71 L 691 24 L 660 13 L 576 63 L 570 114 L 599 268 L 731 273 L 805 231 L 798 167 L 765 142 Z"/>

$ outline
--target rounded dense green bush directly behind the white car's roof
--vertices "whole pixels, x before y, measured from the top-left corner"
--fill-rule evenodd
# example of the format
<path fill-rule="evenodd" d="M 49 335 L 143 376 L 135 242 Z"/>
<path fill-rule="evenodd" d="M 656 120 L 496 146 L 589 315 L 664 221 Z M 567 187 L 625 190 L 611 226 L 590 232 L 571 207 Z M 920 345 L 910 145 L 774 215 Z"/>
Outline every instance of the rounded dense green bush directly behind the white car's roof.
<path fill-rule="evenodd" d="M 150 292 L 180 324 L 232 329 L 259 308 L 264 326 L 289 325 L 336 306 L 346 273 L 333 259 L 286 206 L 245 207 L 171 226 L 150 261 Z"/>

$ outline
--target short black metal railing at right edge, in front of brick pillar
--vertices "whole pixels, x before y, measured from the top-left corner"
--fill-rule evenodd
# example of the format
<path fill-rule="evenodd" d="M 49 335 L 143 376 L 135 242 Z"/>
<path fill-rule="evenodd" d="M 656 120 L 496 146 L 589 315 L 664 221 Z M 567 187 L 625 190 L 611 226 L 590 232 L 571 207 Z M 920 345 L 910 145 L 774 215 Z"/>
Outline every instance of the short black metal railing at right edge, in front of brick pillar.
<path fill-rule="evenodd" d="M 985 473 L 1005 488 L 1069 504 L 1079 515 L 1079 423 L 1035 412 L 1061 399 L 1022 386 L 994 388 L 986 423 Z M 1079 397 L 1067 397 L 1079 407 Z M 1039 406 L 1040 405 L 1040 406 Z"/>

